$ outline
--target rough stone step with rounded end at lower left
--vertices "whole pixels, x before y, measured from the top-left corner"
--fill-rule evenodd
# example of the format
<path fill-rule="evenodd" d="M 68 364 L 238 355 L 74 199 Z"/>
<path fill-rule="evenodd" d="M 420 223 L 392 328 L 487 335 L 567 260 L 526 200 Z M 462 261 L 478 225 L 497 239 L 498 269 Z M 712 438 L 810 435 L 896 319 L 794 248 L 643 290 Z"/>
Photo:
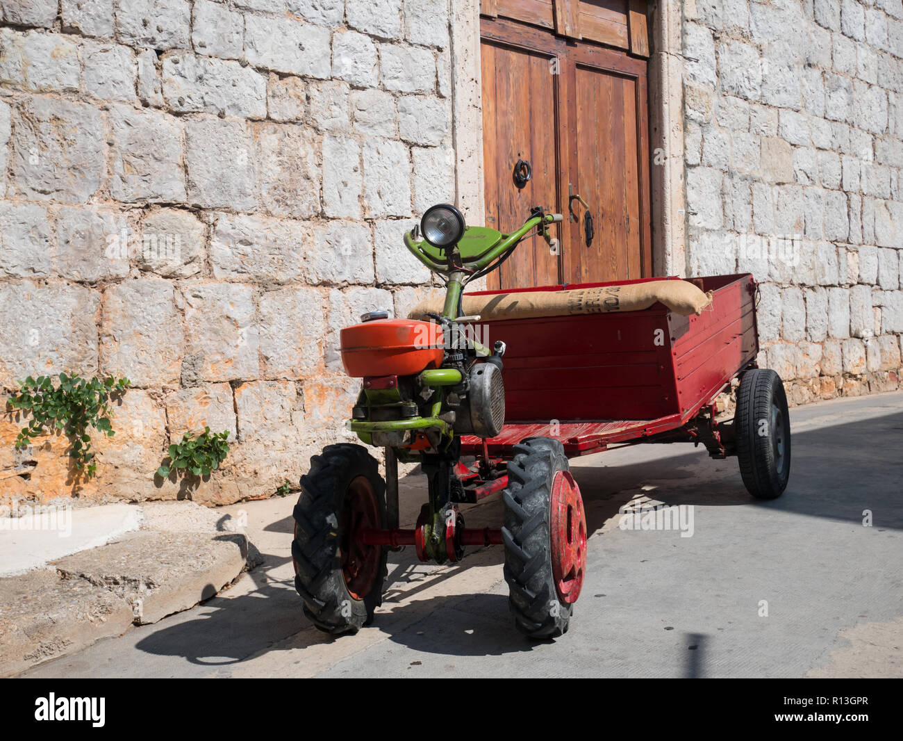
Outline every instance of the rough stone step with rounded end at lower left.
<path fill-rule="evenodd" d="M 187 610 L 254 565 L 230 515 L 193 502 L 154 502 L 142 515 L 141 530 L 114 542 L 0 578 L 0 676 Z"/>

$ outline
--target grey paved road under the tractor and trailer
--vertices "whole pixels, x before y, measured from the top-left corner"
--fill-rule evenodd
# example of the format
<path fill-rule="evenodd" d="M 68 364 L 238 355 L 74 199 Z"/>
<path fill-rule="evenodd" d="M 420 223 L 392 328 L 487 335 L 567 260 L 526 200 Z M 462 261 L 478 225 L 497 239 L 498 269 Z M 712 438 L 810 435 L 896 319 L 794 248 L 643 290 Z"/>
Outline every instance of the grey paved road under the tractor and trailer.
<path fill-rule="evenodd" d="M 324 636 L 294 593 L 284 499 L 230 508 L 247 511 L 265 563 L 227 592 L 26 676 L 903 676 L 903 393 L 791 418 L 793 471 L 776 502 L 749 498 L 736 459 L 690 445 L 573 462 L 588 573 L 557 641 L 515 631 L 500 549 L 457 567 L 393 554 L 376 624 Z M 414 520 L 420 484 L 405 479 L 403 520 Z M 639 497 L 693 505 L 693 536 L 620 530 L 619 508 Z M 472 508 L 468 525 L 498 522 L 500 510 Z"/>

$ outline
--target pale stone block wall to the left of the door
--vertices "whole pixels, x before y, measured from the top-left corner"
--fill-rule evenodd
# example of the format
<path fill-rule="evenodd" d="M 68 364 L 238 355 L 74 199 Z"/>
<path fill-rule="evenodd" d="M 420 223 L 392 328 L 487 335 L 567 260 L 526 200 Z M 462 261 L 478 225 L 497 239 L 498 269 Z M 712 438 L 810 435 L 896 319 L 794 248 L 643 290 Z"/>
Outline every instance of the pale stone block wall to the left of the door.
<path fill-rule="evenodd" d="M 0 0 L 0 387 L 126 376 L 98 475 L 14 451 L 0 500 L 234 502 L 344 436 L 341 326 L 414 303 L 455 198 L 448 0 Z M 171 442 L 228 430 L 198 486 Z"/>

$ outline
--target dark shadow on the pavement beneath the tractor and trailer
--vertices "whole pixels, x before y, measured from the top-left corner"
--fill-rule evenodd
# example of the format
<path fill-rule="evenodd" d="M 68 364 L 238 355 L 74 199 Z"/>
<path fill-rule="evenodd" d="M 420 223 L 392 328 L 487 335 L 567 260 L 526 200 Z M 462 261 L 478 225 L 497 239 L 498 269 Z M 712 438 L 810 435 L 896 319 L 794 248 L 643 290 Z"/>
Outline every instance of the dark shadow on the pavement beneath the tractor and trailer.
<path fill-rule="evenodd" d="M 736 458 L 712 460 L 690 444 L 638 446 L 572 461 L 584 500 L 592 548 L 606 549 L 618 537 L 620 508 L 638 497 L 668 505 L 760 507 L 808 517 L 855 523 L 874 511 L 876 530 L 903 529 L 903 414 L 804 429 L 794 437 L 792 473 L 787 492 L 772 502 L 757 502 L 740 480 Z M 877 443 L 875 441 L 878 441 Z M 399 485 L 401 520 L 411 527 L 425 498 L 423 476 L 412 472 Z M 469 528 L 498 527 L 503 506 L 498 494 L 462 508 Z M 606 525 L 606 522 L 609 522 Z M 291 539 L 291 517 L 265 530 Z M 284 553 L 284 551 L 283 551 Z M 315 630 L 304 617 L 295 593 L 291 558 L 262 553 L 264 563 L 247 577 L 247 594 L 215 596 L 195 610 L 165 618 L 169 623 L 141 639 L 136 648 L 154 655 L 182 656 L 210 667 L 241 664 L 268 652 L 304 649 L 353 638 L 333 638 Z M 454 656 L 501 656 L 529 652 L 552 642 L 535 642 L 517 632 L 507 607 L 502 575 L 503 549 L 468 549 L 457 565 L 421 564 L 413 548 L 389 554 L 383 605 L 368 631 L 416 652 Z M 485 567 L 490 567 L 489 571 Z M 474 583 L 443 586 L 468 575 Z M 487 576 L 489 575 L 489 576 Z M 463 587 L 463 588 L 461 588 Z M 584 587 L 584 592 L 586 591 Z M 575 624 L 562 640 L 579 640 L 587 597 L 577 603 Z M 703 646 L 684 668 L 701 673 Z M 416 658 L 416 657 L 413 657 Z M 303 654 L 300 655 L 303 662 Z"/>

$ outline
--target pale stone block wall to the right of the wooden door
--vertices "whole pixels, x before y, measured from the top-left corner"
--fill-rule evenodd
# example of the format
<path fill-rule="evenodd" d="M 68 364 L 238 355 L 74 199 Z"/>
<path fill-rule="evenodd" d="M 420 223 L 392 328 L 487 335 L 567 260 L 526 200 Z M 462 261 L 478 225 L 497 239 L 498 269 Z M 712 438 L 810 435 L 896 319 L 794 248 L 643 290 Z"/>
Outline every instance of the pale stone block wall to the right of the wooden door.
<path fill-rule="evenodd" d="M 684 3 L 686 269 L 761 281 L 792 402 L 897 389 L 900 0 Z"/>

